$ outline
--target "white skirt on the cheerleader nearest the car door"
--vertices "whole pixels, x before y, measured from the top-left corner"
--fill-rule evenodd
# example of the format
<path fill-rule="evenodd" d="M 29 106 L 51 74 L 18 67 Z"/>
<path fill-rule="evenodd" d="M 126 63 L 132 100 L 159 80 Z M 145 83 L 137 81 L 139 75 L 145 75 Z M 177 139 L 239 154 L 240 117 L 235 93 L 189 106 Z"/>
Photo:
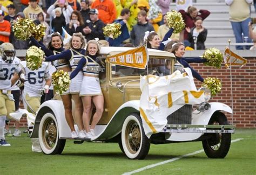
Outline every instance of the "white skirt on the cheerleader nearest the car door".
<path fill-rule="evenodd" d="M 102 89 L 99 85 L 99 78 L 92 76 L 84 76 L 79 96 L 96 95 L 102 95 Z"/>

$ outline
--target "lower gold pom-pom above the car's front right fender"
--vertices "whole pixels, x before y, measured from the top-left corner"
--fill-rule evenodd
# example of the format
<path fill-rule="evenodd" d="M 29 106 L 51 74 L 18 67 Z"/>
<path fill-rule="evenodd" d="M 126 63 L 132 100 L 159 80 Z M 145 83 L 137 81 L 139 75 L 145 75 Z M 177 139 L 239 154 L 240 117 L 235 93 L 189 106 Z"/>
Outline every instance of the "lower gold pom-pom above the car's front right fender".
<path fill-rule="evenodd" d="M 212 95 L 216 95 L 221 91 L 222 85 L 218 78 L 208 77 L 204 80 L 202 86 L 208 88 L 211 91 Z"/>

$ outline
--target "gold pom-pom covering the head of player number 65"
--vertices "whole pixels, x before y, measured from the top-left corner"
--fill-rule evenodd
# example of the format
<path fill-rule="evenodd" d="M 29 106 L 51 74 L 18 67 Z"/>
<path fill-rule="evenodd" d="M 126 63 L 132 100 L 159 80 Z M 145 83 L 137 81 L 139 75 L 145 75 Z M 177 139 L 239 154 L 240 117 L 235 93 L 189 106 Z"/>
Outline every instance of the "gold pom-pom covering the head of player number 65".
<path fill-rule="evenodd" d="M 32 71 L 42 67 L 43 59 L 44 52 L 36 46 L 31 46 L 26 51 L 26 66 Z"/>

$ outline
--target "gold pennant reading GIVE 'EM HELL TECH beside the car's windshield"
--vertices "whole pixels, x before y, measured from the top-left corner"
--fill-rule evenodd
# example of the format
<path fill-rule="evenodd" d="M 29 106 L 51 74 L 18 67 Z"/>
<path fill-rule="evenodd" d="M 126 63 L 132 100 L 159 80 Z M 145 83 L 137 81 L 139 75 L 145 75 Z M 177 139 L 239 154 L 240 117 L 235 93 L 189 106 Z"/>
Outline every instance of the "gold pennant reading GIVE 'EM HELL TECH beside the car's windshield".
<path fill-rule="evenodd" d="M 107 61 L 120 66 L 145 69 L 147 66 L 147 50 L 145 46 L 140 46 L 129 51 L 108 56 Z"/>

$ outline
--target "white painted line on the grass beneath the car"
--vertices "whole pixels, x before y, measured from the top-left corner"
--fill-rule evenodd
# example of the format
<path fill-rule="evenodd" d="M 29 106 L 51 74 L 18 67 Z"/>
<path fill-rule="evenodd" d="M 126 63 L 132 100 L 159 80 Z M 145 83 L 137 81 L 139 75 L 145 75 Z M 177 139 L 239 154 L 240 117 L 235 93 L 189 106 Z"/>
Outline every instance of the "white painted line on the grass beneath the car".
<path fill-rule="evenodd" d="M 242 139 L 244 139 L 244 138 L 234 139 L 234 140 L 231 141 L 231 143 L 241 141 Z M 201 152 L 204 152 L 204 150 L 198 150 L 198 151 L 195 151 L 195 152 L 192 152 L 192 153 L 188 153 L 186 155 L 182 155 L 182 156 L 179 156 L 179 157 L 174 157 L 174 158 L 169 159 L 169 160 L 165 160 L 163 162 L 159 162 L 159 163 L 152 164 L 152 165 L 147 165 L 147 166 L 144 166 L 144 167 L 142 167 L 140 169 L 137 169 L 137 170 L 134 170 L 134 171 L 125 172 L 125 173 L 123 173 L 123 175 L 129 175 L 129 174 L 137 173 L 137 172 L 144 171 L 144 170 L 147 170 L 147 169 L 151 169 L 152 167 L 156 167 L 156 166 L 159 166 L 159 165 L 163 165 L 163 164 L 167 164 L 167 163 L 170 163 L 170 162 L 174 162 L 175 160 L 179 160 L 179 159 L 184 158 L 184 157 L 197 155 L 198 153 L 201 153 Z"/>

